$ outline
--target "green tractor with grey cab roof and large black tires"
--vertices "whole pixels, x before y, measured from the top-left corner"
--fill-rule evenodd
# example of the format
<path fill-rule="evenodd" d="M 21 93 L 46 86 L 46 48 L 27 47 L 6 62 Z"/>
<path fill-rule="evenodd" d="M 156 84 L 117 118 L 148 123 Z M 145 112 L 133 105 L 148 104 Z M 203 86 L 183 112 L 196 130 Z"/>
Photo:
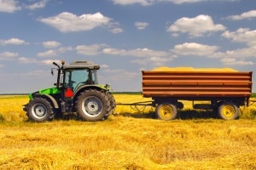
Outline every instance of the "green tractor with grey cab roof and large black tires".
<path fill-rule="evenodd" d="M 54 88 L 46 88 L 29 94 L 29 102 L 23 110 L 30 121 L 46 122 L 64 113 L 76 112 L 84 121 L 96 122 L 108 118 L 114 111 L 115 100 L 110 86 L 99 85 L 96 71 L 100 65 L 90 61 L 74 61 L 70 65 L 53 62 L 57 70 Z"/>

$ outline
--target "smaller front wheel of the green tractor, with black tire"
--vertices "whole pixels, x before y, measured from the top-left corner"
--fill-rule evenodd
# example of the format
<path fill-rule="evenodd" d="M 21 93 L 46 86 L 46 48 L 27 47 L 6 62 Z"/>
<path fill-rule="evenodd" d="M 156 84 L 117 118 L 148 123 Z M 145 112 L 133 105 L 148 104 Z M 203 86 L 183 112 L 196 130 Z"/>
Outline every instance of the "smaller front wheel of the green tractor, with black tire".
<path fill-rule="evenodd" d="M 26 106 L 26 116 L 34 122 L 51 121 L 54 117 L 53 107 L 47 99 L 31 99 Z"/>

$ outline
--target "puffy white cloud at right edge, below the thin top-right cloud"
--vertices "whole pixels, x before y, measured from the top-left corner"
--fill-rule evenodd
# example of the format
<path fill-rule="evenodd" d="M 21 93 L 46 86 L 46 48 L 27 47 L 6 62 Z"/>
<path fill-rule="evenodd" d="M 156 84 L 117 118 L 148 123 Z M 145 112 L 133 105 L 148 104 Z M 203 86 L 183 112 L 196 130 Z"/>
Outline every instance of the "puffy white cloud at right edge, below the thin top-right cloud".
<path fill-rule="evenodd" d="M 224 31 L 222 37 L 231 39 L 234 42 L 246 42 L 249 46 L 256 46 L 256 30 L 240 28 L 236 31 Z"/>

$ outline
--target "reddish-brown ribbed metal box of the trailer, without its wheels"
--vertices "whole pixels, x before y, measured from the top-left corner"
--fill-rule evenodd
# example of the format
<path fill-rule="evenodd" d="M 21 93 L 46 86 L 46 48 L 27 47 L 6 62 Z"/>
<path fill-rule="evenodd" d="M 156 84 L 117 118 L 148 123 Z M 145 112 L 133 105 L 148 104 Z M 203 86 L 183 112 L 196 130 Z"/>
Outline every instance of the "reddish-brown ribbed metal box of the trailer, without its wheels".
<path fill-rule="evenodd" d="M 144 97 L 247 97 L 252 71 L 142 71 Z"/>

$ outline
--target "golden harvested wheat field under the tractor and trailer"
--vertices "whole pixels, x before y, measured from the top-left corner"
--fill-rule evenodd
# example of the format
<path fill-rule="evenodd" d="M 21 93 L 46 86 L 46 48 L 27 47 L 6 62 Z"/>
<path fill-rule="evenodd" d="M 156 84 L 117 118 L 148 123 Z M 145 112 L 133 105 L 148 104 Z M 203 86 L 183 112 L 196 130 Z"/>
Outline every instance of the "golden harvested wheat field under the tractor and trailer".
<path fill-rule="evenodd" d="M 146 101 L 114 94 L 118 103 Z M 224 121 L 185 102 L 170 122 L 154 108 L 117 105 L 102 122 L 67 115 L 52 122 L 26 122 L 26 96 L 0 97 L 0 169 L 256 169 L 255 105 Z"/>

